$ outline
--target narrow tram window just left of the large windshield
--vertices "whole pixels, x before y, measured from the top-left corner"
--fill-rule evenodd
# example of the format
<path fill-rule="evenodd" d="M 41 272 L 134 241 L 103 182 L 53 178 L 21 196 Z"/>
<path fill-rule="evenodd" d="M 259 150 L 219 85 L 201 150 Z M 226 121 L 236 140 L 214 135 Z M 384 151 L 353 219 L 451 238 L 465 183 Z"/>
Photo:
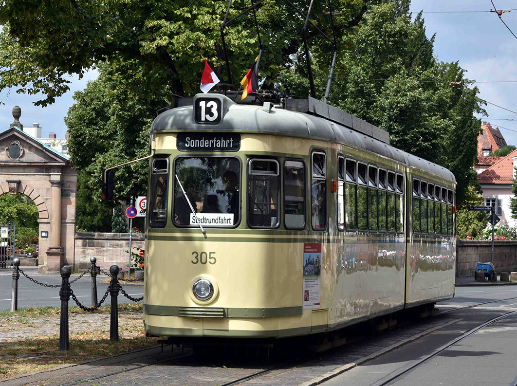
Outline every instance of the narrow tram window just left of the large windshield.
<path fill-rule="evenodd" d="M 167 186 L 169 184 L 169 158 L 155 158 L 151 165 L 151 191 L 149 199 L 149 225 L 164 227 L 167 223 Z"/>

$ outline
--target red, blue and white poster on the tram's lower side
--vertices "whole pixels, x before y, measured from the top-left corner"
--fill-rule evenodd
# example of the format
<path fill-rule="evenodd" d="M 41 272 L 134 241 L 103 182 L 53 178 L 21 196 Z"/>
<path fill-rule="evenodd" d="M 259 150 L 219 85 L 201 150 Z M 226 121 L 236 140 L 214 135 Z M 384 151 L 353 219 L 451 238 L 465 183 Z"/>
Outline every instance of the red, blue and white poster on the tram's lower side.
<path fill-rule="evenodd" d="M 303 309 L 320 308 L 321 243 L 303 243 Z"/>

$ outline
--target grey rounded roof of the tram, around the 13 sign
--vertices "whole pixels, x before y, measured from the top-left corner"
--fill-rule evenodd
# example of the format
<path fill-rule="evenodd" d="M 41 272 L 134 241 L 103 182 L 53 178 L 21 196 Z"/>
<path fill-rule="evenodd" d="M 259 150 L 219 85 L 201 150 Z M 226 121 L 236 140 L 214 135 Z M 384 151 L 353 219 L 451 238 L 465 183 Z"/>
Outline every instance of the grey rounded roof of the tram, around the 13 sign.
<path fill-rule="evenodd" d="M 199 97 L 215 98 L 221 101 L 223 117 L 221 117 L 220 123 L 214 125 L 195 122 L 193 105 Z M 409 167 L 422 169 L 425 172 L 455 182 L 454 175 L 449 169 L 397 149 L 389 143 L 379 141 L 328 118 L 272 107 L 268 106 L 268 103 L 264 103 L 264 106 L 240 104 L 221 94 L 197 94 L 194 98 L 187 99 L 187 103 L 189 104 L 159 114 L 155 118 L 153 126 L 151 126 L 151 134 L 181 131 L 249 132 L 339 142 L 371 151 Z"/>

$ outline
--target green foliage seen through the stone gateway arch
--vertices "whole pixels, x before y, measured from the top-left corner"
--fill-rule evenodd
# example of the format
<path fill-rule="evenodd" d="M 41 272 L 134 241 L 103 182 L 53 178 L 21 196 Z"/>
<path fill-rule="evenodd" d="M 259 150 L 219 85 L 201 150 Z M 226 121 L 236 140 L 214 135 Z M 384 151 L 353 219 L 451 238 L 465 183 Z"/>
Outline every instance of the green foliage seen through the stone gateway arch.
<path fill-rule="evenodd" d="M 7 221 L 16 221 L 17 228 L 32 228 L 38 236 L 38 207 L 25 195 L 0 196 L 0 223 Z"/>

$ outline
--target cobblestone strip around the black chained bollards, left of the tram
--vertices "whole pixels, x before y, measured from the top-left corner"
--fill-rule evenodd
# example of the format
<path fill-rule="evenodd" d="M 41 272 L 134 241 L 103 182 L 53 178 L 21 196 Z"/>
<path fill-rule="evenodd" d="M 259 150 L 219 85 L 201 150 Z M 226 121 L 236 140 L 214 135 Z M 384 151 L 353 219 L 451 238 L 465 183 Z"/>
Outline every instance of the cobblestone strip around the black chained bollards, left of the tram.
<path fill-rule="evenodd" d="M 83 331 L 110 330 L 110 314 L 70 314 L 69 331 L 71 334 Z M 142 314 L 120 314 L 118 321 L 120 330 L 133 326 L 143 329 Z M 59 334 L 59 315 L 44 317 L 0 317 L 0 345 L 16 342 L 36 336 Z"/>

